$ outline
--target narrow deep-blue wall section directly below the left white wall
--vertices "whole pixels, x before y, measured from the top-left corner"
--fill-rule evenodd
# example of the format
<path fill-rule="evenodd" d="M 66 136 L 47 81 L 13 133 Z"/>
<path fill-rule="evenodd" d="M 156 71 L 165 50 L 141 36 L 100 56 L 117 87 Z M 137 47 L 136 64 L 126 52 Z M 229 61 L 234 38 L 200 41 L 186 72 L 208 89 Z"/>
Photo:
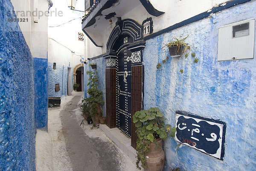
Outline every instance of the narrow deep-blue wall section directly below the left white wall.
<path fill-rule="evenodd" d="M 47 129 L 48 122 L 48 72 L 47 59 L 33 58 L 35 80 L 35 125 Z"/>

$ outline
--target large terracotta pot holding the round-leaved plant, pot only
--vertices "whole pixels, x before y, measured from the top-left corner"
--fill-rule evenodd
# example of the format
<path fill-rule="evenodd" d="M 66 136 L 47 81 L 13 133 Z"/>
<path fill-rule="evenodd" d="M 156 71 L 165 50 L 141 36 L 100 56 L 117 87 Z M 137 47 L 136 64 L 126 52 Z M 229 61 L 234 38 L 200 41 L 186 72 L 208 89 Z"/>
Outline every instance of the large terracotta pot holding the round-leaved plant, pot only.
<path fill-rule="evenodd" d="M 146 165 L 148 169 L 144 169 L 144 171 L 163 171 L 164 165 L 164 151 L 162 148 L 163 139 L 156 139 L 157 145 L 154 142 L 151 142 L 149 145 L 150 153 L 145 153 L 146 156 Z"/>

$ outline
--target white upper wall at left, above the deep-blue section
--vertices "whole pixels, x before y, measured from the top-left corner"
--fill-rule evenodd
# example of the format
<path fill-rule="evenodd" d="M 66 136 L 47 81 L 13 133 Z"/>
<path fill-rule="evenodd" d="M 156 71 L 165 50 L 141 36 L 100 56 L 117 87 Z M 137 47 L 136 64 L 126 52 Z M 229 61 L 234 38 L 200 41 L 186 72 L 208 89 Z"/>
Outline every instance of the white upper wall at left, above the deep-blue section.
<path fill-rule="evenodd" d="M 48 34 L 48 16 L 46 14 L 48 14 L 48 1 L 12 0 L 12 4 L 17 18 L 25 19 L 25 22 L 19 22 L 19 26 L 33 58 L 46 59 Z M 34 23 L 34 20 L 37 20 L 38 23 Z"/>

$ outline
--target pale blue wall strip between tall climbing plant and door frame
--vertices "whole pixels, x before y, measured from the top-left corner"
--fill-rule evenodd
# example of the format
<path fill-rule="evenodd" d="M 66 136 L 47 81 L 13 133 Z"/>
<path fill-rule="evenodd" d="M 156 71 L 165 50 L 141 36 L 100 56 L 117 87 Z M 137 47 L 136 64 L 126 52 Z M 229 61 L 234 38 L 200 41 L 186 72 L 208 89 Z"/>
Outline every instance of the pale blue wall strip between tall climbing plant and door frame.
<path fill-rule="evenodd" d="M 94 70 L 94 71 L 97 71 L 97 76 L 99 78 L 99 81 L 98 81 L 98 90 L 101 90 L 103 92 L 103 100 L 104 100 L 104 105 L 102 105 L 102 110 L 103 110 L 103 113 L 102 113 L 102 116 L 106 116 L 106 82 L 105 82 L 105 68 L 106 68 L 106 60 L 105 58 L 97 58 L 97 59 L 94 59 L 94 60 L 91 60 L 91 61 L 88 61 L 88 64 L 87 64 L 87 71 L 91 71 L 93 70 L 91 66 L 89 66 L 89 64 L 92 64 L 92 63 L 95 63 L 97 64 L 97 69 Z M 89 75 L 87 75 L 87 79 L 89 78 Z M 87 80 L 88 81 L 88 80 Z M 88 86 L 88 88 L 90 88 Z M 84 89 L 84 92 L 86 91 L 87 89 Z"/>

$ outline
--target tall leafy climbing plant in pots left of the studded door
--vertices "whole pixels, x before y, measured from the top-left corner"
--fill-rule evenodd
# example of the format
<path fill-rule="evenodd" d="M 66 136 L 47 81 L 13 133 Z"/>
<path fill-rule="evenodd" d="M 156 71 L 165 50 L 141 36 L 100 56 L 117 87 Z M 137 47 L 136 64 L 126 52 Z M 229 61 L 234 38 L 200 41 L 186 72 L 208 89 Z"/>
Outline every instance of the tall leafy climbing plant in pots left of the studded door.
<path fill-rule="evenodd" d="M 87 74 L 89 75 L 89 82 L 87 86 L 90 85 L 87 93 L 90 96 L 86 98 L 86 101 L 88 101 L 90 104 L 90 116 L 93 119 L 93 123 L 95 125 L 99 125 L 99 117 L 102 114 L 102 108 L 100 104 L 104 104 L 104 101 L 102 100 L 103 92 L 97 89 L 97 81 L 99 80 L 96 75 L 97 72 L 87 71 Z"/>

